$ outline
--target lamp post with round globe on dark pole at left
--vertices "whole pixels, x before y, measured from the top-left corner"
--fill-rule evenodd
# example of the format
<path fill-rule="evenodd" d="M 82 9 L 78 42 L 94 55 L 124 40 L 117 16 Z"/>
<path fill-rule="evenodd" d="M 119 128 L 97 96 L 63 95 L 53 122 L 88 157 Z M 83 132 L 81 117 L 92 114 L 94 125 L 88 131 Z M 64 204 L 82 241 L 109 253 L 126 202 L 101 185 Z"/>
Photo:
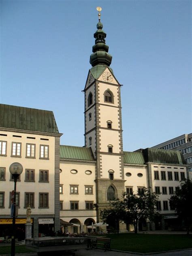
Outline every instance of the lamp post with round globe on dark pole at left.
<path fill-rule="evenodd" d="M 11 256 L 15 256 L 15 213 L 16 213 L 16 183 L 17 178 L 23 172 L 23 166 L 17 162 L 9 166 L 9 171 L 14 177 L 14 199 L 13 199 L 13 225 L 11 237 Z"/>

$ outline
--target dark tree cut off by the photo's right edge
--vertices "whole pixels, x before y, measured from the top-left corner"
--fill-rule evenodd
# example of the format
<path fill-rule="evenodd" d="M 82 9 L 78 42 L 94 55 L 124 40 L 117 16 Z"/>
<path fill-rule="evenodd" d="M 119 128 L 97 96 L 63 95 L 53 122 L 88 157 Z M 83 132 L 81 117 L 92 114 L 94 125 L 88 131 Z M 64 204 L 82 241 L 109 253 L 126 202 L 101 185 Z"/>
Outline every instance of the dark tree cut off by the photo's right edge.
<path fill-rule="evenodd" d="M 185 179 L 180 182 L 180 186 L 180 189 L 175 190 L 174 195 L 171 196 L 169 203 L 172 208 L 175 208 L 175 213 L 179 218 L 185 221 L 189 235 L 192 224 L 192 181 Z"/>

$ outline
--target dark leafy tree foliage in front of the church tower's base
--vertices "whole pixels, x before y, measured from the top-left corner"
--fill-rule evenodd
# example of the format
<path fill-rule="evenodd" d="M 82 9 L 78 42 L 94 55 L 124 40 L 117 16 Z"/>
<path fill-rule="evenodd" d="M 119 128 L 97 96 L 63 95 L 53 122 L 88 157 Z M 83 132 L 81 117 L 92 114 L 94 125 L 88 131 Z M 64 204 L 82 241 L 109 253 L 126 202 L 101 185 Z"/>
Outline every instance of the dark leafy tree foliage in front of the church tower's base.
<path fill-rule="evenodd" d="M 154 220 L 155 215 L 158 213 L 155 207 L 157 200 L 158 196 L 144 187 L 141 193 L 124 193 L 122 200 L 117 199 L 110 202 L 108 209 L 100 211 L 100 217 L 104 222 L 107 222 L 107 219 L 111 217 L 115 220 L 115 223 L 123 221 L 126 224 L 134 224 L 134 232 L 137 233 L 140 219 Z"/>

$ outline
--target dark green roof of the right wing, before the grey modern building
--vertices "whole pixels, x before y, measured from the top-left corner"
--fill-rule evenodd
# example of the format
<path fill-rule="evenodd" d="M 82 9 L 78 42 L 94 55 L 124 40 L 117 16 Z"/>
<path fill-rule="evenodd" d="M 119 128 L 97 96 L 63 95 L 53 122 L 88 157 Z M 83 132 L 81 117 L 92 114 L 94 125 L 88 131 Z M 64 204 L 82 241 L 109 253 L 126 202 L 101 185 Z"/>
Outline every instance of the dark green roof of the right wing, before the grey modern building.
<path fill-rule="evenodd" d="M 146 148 L 143 149 L 145 162 L 162 164 L 186 164 L 180 151 Z"/>

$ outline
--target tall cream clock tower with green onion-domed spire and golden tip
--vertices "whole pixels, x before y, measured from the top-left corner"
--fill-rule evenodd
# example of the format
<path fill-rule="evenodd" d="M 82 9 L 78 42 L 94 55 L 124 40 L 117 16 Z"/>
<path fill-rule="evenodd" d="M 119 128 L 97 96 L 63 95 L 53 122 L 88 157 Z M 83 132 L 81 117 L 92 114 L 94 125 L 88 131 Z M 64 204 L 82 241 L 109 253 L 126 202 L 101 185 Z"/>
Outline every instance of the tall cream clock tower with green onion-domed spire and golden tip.
<path fill-rule="evenodd" d="M 124 153 L 122 141 L 121 85 L 110 68 L 112 56 L 105 44 L 106 33 L 99 21 L 94 33 L 95 45 L 85 84 L 85 147 L 91 147 L 96 159 L 96 208 L 121 198 L 124 192 Z"/>

